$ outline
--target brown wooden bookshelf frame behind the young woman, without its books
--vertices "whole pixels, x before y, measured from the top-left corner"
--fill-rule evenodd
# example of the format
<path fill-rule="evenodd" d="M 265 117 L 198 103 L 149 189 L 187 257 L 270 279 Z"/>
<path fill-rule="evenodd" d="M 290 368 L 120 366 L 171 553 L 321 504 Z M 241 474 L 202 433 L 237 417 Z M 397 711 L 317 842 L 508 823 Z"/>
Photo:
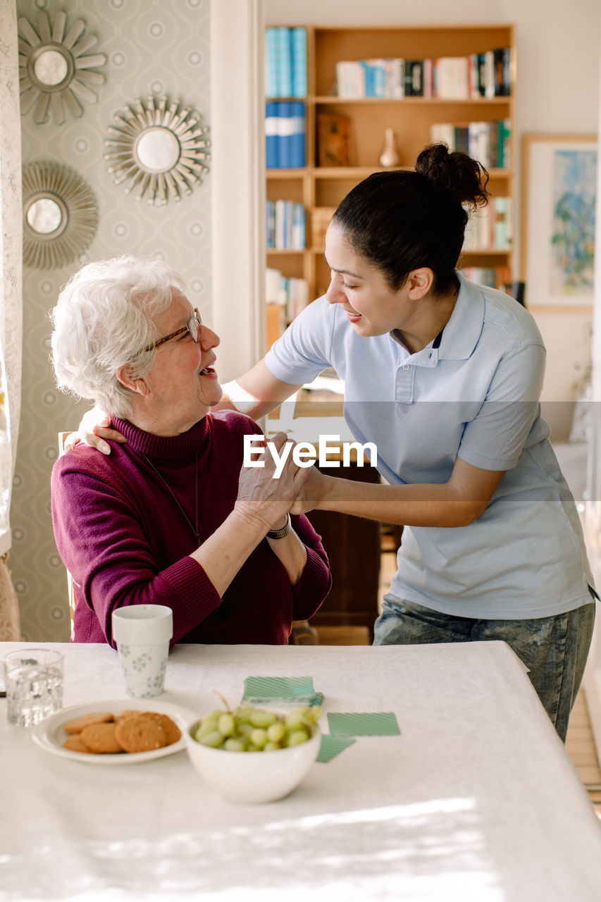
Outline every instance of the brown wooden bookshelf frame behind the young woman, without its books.
<path fill-rule="evenodd" d="M 277 26 L 272 26 L 277 27 Z M 434 60 L 440 57 L 469 57 L 496 48 L 510 48 L 509 96 L 445 99 L 442 97 L 353 97 L 335 96 L 337 62 L 341 60 Z M 430 143 L 433 124 L 504 120 L 509 124 L 509 165 L 488 170 L 488 188 L 495 198 L 513 198 L 513 151 L 515 122 L 515 32 L 512 24 L 401 25 L 368 27 L 307 26 L 306 165 L 299 169 L 266 170 L 266 197 L 285 198 L 305 207 L 306 246 L 302 250 L 268 250 L 267 266 L 287 278 L 305 279 L 310 299 L 328 288 L 329 271 L 323 259 L 324 247 L 317 237 L 320 208 L 337 207 L 357 182 L 381 170 L 379 157 L 384 129 L 392 128 L 400 152 L 401 167 L 411 168 L 416 157 Z M 291 98 L 271 98 L 275 100 Z M 347 116 L 351 123 L 351 154 L 354 165 L 319 166 L 316 135 L 320 113 Z M 318 210 L 316 214 L 315 211 Z M 316 241 L 312 241 L 313 232 Z M 460 265 L 491 267 L 499 279 L 511 281 L 513 254 L 507 248 L 466 251 Z M 277 337 L 275 317 L 268 329 L 268 346 Z"/>

